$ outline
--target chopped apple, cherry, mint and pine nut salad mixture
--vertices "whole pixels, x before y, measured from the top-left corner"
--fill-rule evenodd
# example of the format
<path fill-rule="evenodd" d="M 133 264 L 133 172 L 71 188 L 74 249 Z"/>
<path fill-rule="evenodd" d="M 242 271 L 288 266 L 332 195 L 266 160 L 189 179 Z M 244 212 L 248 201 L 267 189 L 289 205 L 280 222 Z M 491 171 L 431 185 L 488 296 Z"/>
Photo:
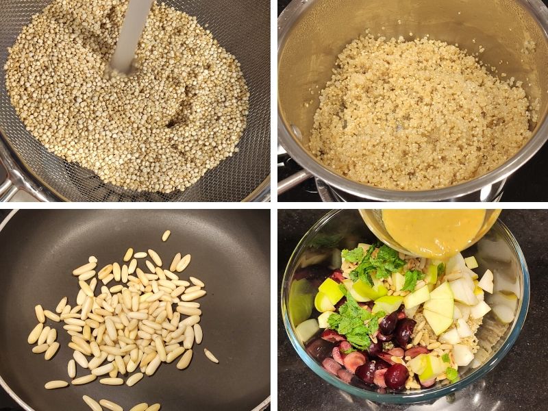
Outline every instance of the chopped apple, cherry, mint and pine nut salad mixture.
<path fill-rule="evenodd" d="M 320 314 L 296 333 L 310 353 L 325 351 L 316 358 L 347 383 L 381 392 L 454 383 L 459 371 L 481 364 L 476 334 L 484 316 L 493 310 L 499 323 L 514 319 L 515 305 L 499 301 L 511 297 L 493 295 L 493 273 L 475 273 L 474 257 L 441 262 L 383 244 L 359 244 L 340 256 L 340 268 L 317 282 Z"/>

